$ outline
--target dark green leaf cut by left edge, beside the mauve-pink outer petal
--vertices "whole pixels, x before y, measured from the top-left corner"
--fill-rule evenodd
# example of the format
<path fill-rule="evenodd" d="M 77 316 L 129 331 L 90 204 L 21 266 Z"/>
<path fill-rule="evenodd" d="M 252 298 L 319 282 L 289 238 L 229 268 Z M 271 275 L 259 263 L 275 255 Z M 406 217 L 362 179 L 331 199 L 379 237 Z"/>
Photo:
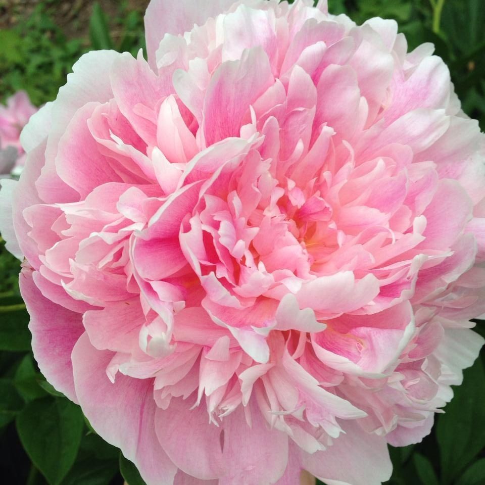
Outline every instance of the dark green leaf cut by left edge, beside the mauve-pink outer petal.
<path fill-rule="evenodd" d="M 29 320 L 23 303 L 0 306 L 0 350 L 30 350 Z"/>

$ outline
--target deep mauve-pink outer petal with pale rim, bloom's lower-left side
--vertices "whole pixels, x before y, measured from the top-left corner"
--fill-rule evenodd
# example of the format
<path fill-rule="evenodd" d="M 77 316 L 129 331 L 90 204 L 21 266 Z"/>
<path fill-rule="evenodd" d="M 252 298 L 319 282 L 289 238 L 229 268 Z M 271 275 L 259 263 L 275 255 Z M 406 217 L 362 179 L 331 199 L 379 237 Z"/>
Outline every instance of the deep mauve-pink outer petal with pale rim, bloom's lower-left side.
<path fill-rule="evenodd" d="M 19 283 L 30 315 L 32 350 L 39 369 L 58 391 L 77 402 L 71 352 L 84 331 L 81 315 L 44 298 L 30 269 L 23 268 Z"/>

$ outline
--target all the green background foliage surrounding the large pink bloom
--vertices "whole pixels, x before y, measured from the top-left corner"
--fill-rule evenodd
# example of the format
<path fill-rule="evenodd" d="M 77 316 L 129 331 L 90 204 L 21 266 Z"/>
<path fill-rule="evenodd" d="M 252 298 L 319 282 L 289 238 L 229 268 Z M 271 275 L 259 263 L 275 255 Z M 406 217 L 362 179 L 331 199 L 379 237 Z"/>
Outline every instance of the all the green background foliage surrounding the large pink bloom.
<path fill-rule="evenodd" d="M 210 1 L 210 0 L 207 0 Z M 395 19 L 409 48 L 433 42 L 463 110 L 485 129 L 485 0 L 328 0 L 357 23 Z M 55 98 L 73 63 L 92 49 L 143 48 L 148 0 L 0 0 L 0 101 L 25 89 Z M 176 2 L 174 2 L 176 8 Z M 0 243 L 0 482 L 142 485 L 136 468 L 96 435 L 78 406 L 39 373 L 20 298 L 19 262 Z M 485 335 L 481 322 L 476 330 Z M 485 354 L 422 443 L 391 448 L 390 485 L 485 485 Z"/>

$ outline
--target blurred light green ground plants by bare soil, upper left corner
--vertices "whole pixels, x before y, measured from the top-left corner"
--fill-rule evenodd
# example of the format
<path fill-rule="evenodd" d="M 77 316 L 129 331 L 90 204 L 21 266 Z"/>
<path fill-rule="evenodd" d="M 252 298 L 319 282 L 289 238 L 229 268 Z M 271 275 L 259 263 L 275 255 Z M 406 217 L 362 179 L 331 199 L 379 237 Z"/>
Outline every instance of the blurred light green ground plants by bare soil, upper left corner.
<path fill-rule="evenodd" d="M 19 89 L 29 93 L 34 105 L 52 101 L 85 52 L 115 49 L 136 55 L 144 47 L 143 14 L 129 10 L 127 2 L 117 5 L 112 18 L 97 2 L 88 7 L 89 36 L 72 36 L 56 24 L 53 17 L 61 4 L 60 0 L 39 2 L 27 18 L 0 30 L 0 101 Z"/>

